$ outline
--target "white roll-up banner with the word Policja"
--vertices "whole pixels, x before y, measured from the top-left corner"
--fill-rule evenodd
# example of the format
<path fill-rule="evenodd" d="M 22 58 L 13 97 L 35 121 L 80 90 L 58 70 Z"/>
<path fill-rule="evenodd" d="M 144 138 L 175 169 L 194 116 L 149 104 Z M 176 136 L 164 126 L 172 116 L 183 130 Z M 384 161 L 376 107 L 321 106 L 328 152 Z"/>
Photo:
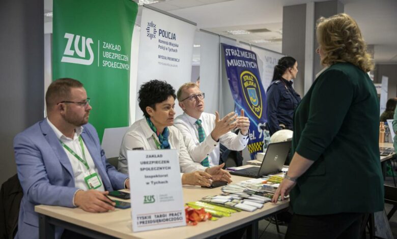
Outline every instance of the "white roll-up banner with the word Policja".
<path fill-rule="evenodd" d="M 190 81 L 196 26 L 148 8 L 142 10 L 140 26 L 137 89 L 144 82 L 158 79 L 177 91 Z M 177 115 L 182 113 L 179 106 L 175 109 Z M 143 117 L 137 101 L 135 111 L 136 120 Z"/>

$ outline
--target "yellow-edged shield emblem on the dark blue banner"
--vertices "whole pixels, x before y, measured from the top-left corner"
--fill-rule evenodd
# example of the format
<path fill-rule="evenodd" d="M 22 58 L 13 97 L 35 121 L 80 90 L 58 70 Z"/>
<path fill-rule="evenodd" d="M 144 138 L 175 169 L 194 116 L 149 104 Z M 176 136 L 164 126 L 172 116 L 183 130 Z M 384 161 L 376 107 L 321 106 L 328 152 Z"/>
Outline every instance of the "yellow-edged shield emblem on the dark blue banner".
<path fill-rule="evenodd" d="M 243 71 L 240 75 L 241 86 L 245 101 L 252 113 L 262 117 L 262 95 L 257 77 L 250 71 Z"/>

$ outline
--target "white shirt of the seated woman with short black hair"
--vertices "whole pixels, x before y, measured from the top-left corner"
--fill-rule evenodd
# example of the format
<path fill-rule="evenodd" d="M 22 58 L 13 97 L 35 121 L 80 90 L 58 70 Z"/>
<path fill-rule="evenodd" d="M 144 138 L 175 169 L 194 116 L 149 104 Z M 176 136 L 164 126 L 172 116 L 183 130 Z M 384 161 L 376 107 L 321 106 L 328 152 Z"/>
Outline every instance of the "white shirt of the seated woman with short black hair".
<path fill-rule="evenodd" d="M 168 127 L 168 142 L 172 149 L 176 149 L 178 152 L 179 166 L 182 173 L 193 172 L 193 171 L 204 171 L 206 167 L 201 164 L 194 163 L 189 153 L 186 150 L 185 143 L 183 142 L 182 134 L 174 126 Z M 126 134 L 123 137 L 123 141 L 120 147 L 118 170 L 119 172 L 128 174 L 128 162 L 127 162 L 127 150 L 133 148 L 142 148 L 143 150 L 157 150 L 154 136 L 159 141 L 157 135 L 149 127 L 146 118 L 139 119 L 130 126 Z"/>

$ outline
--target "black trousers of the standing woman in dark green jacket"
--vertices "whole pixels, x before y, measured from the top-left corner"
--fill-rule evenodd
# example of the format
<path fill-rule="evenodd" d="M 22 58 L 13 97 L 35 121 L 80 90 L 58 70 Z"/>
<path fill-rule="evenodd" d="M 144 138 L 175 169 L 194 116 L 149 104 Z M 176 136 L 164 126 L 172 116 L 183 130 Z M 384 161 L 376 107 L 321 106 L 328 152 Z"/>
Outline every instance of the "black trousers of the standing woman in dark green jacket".
<path fill-rule="evenodd" d="M 285 239 L 358 239 L 363 213 L 341 213 L 320 216 L 294 214 Z"/>

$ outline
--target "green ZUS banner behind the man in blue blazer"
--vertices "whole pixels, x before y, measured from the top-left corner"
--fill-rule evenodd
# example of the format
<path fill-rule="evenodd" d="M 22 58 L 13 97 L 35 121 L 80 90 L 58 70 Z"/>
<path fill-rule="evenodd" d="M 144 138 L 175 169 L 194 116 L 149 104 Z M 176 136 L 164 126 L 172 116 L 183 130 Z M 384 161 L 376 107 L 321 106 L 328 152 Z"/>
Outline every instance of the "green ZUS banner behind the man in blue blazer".
<path fill-rule="evenodd" d="M 131 0 L 53 0 L 52 79 L 81 81 L 91 98 L 90 123 L 128 126 L 132 29 Z"/>

